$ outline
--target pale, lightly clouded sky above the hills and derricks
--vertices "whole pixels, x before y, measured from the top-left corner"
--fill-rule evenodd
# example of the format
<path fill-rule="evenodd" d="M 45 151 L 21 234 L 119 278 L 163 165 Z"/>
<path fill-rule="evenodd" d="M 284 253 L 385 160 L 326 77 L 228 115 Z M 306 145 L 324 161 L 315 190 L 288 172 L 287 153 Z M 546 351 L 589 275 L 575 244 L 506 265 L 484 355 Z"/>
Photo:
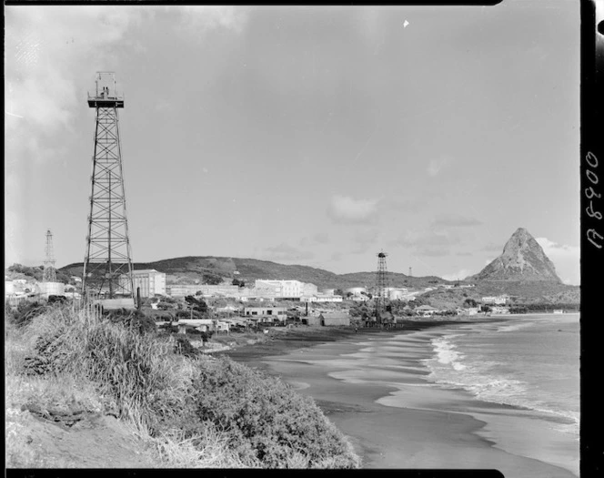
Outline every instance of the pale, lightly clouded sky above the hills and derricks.
<path fill-rule="evenodd" d="M 84 259 L 97 71 L 136 262 L 456 280 L 525 228 L 579 284 L 578 2 L 6 6 L 6 266 Z"/>

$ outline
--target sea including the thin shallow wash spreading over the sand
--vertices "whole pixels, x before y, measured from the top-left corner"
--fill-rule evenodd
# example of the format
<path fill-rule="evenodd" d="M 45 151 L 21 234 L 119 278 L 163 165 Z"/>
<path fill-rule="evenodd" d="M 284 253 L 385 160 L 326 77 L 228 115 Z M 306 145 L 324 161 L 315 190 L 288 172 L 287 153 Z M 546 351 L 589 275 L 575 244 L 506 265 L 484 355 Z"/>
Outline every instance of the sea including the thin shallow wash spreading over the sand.
<path fill-rule="evenodd" d="M 310 395 L 325 371 L 367 393 L 385 390 L 373 400 L 387 407 L 471 415 L 491 446 L 562 469 L 552 477 L 579 476 L 579 326 L 578 313 L 524 314 L 361 333 L 271 367 Z M 506 476 L 517 472 L 527 475 Z"/>

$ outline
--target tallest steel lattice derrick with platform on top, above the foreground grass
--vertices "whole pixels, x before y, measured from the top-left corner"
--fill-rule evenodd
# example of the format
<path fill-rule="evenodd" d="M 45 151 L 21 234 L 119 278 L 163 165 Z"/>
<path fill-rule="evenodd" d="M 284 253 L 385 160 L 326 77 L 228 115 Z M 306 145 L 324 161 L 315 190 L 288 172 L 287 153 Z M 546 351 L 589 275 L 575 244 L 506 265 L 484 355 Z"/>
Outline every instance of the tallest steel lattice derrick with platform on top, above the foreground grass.
<path fill-rule="evenodd" d="M 88 107 L 96 109 L 96 129 L 82 290 L 108 299 L 132 297 L 134 282 L 117 117 L 117 109 L 124 107 L 124 97 L 117 96 L 113 73 L 96 74 L 96 95 L 88 94 Z"/>

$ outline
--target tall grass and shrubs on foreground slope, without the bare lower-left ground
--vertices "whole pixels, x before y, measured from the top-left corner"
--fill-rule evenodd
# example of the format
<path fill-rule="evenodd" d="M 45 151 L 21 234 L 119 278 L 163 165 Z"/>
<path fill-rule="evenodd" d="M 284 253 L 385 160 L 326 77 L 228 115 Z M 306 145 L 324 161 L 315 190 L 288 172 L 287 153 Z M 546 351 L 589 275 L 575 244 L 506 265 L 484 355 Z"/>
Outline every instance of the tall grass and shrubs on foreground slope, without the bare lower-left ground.
<path fill-rule="evenodd" d="M 157 466 L 358 466 L 314 402 L 243 365 L 188 358 L 169 337 L 66 307 L 7 330 L 14 405 L 115 408 Z"/>

